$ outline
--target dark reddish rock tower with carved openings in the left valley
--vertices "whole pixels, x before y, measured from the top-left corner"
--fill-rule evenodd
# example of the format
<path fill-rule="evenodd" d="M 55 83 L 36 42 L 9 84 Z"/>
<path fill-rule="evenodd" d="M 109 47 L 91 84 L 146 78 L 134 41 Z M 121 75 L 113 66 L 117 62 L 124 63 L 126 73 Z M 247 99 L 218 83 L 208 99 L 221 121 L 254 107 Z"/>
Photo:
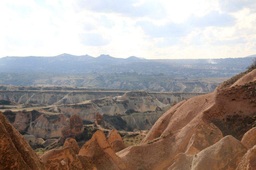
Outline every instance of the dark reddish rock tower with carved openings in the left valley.
<path fill-rule="evenodd" d="M 83 120 L 77 114 L 73 114 L 69 118 L 69 122 L 66 126 L 61 128 L 61 137 L 80 139 L 84 131 Z"/>

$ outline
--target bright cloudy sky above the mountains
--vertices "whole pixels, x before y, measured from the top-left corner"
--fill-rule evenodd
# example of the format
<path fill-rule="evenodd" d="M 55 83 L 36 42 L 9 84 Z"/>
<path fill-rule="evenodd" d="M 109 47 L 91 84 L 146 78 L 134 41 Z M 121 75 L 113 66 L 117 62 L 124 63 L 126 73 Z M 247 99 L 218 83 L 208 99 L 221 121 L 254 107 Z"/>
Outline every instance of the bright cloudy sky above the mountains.
<path fill-rule="evenodd" d="M 255 0 L 8 0 L 0 21 L 0 58 L 256 54 Z"/>

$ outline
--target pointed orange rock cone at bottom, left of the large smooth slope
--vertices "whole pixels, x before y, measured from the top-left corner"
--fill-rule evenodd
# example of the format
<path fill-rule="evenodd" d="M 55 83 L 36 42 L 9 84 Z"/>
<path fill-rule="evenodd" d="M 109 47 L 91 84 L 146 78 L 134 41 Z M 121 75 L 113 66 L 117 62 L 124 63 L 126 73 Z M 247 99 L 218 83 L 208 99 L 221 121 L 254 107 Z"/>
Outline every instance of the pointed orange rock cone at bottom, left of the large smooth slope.
<path fill-rule="evenodd" d="M 109 145 L 104 133 L 97 130 L 92 138 L 82 146 L 79 155 L 88 156 L 93 160 L 92 164 L 100 169 L 126 169 L 123 161 L 115 154 Z"/>

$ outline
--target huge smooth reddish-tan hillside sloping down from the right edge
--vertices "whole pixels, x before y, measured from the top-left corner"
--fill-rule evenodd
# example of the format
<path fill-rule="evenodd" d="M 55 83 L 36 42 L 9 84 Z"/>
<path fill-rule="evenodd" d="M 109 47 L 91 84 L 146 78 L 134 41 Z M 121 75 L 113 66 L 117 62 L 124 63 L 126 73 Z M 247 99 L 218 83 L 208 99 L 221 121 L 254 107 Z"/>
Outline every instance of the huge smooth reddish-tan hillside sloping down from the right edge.
<path fill-rule="evenodd" d="M 210 94 L 181 101 L 158 119 L 143 139 L 143 145 L 130 146 L 117 152 L 117 155 L 129 162 L 126 164 L 127 169 L 135 170 L 134 167 L 138 166 L 149 170 L 167 169 L 173 164 L 172 161 L 177 154 L 187 151 L 187 146 L 193 140 L 191 139 L 193 134 L 202 122 L 213 123 L 221 130 L 223 136 L 232 135 L 241 140 L 254 123 L 251 117 L 255 114 L 256 103 L 250 100 L 253 100 L 255 92 L 253 91 L 253 95 L 250 95 L 250 89 L 255 88 L 256 82 L 254 81 L 245 86 L 238 85 L 216 90 Z M 216 128 L 213 128 L 213 131 L 216 131 Z M 216 132 L 218 134 L 218 130 Z M 209 137 L 211 137 L 210 134 Z M 206 141 L 203 148 L 207 146 L 209 148 L 211 145 L 209 141 L 214 140 Z M 167 144 L 168 147 L 166 147 Z M 147 159 L 140 159 L 142 157 Z M 140 161 L 137 161 L 138 159 Z M 238 165 L 234 161 L 230 163 L 233 164 L 234 169 L 235 165 Z"/>

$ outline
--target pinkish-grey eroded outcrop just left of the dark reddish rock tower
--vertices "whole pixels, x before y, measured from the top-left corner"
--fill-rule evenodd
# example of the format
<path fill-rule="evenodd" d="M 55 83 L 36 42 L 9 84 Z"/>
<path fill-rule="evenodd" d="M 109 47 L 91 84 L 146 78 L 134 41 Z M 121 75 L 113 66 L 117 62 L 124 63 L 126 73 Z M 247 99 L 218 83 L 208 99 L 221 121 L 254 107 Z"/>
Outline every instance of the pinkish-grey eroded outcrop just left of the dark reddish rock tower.
<path fill-rule="evenodd" d="M 43 113 L 30 123 L 27 133 L 43 139 L 59 138 L 67 124 L 68 118 L 63 114 Z"/>

